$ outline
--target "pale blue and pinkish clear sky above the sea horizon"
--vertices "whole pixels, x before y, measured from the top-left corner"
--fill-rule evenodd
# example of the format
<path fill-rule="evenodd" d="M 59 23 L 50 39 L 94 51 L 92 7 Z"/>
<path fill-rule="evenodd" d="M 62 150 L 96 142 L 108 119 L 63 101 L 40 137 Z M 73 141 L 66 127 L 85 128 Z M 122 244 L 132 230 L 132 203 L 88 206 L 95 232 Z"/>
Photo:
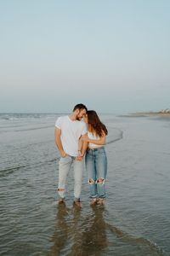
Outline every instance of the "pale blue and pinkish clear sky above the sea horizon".
<path fill-rule="evenodd" d="M 0 113 L 170 108 L 169 0 L 1 0 Z"/>

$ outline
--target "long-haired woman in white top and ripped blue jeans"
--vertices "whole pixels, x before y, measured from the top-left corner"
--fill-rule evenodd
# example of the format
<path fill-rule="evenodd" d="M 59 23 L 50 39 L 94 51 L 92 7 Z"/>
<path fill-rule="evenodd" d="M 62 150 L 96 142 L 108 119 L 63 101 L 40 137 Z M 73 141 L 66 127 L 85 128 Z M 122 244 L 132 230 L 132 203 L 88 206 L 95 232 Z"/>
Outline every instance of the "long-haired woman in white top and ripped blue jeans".
<path fill-rule="evenodd" d="M 104 204 L 105 177 L 107 157 L 105 154 L 105 137 L 108 131 L 94 110 L 88 110 L 84 116 L 88 125 L 88 134 L 82 137 L 82 154 L 86 151 L 85 163 L 88 171 L 91 205 Z"/>

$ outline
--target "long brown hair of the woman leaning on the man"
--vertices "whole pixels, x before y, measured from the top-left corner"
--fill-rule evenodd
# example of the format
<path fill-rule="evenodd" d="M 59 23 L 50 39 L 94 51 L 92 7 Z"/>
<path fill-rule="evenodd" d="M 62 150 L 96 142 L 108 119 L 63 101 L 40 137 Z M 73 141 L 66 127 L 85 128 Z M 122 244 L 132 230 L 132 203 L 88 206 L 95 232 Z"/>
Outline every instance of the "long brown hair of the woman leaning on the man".
<path fill-rule="evenodd" d="M 98 114 L 94 110 L 88 110 L 88 125 L 90 130 L 94 132 L 97 136 L 102 137 L 103 133 L 108 134 L 107 128 L 100 121 Z"/>

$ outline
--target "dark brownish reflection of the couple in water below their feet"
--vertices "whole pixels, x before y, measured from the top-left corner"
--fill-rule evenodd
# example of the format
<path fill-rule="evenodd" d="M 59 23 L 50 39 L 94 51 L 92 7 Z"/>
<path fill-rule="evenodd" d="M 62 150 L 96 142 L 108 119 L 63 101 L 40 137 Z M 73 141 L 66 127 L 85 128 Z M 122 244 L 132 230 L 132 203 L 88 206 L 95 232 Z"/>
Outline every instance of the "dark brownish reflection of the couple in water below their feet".
<path fill-rule="evenodd" d="M 85 218 L 77 207 L 58 207 L 49 255 L 100 255 L 107 247 L 104 207 L 92 207 Z"/>

